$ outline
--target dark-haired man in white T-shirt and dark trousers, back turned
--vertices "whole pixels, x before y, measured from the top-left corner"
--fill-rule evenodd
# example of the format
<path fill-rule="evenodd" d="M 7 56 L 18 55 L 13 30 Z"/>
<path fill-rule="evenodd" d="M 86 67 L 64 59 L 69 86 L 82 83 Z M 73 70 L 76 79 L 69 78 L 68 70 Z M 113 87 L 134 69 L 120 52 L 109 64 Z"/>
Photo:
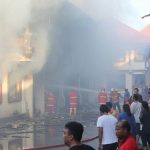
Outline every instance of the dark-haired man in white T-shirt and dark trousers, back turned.
<path fill-rule="evenodd" d="M 99 148 L 103 150 L 116 150 L 117 137 L 115 134 L 115 127 L 117 119 L 108 114 L 108 107 L 106 105 L 100 106 L 101 116 L 97 120 Z"/>

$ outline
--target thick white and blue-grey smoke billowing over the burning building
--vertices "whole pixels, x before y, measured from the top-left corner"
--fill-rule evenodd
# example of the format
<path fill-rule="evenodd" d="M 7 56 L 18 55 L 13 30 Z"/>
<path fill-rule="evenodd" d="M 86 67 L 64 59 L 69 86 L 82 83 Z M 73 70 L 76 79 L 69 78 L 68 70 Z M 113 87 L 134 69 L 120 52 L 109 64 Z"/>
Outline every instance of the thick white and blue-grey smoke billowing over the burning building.
<path fill-rule="evenodd" d="M 140 43 L 123 33 L 130 32 L 118 19 L 119 6 L 122 13 L 125 8 L 115 0 L 109 3 L 1 0 L 0 74 L 15 72 L 16 81 L 43 69 L 46 83 L 62 84 L 77 76 L 104 80 L 113 63 Z"/>

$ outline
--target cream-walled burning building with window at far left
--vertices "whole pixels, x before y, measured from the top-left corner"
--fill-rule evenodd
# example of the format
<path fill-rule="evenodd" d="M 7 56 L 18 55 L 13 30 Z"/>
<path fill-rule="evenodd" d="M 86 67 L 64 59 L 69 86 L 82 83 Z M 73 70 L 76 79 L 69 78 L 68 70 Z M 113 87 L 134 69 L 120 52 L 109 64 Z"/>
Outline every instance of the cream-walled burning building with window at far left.
<path fill-rule="evenodd" d="M 26 65 L 31 63 L 31 33 L 26 30 L 23 34 L 21 53 L 10 57 L 14 69 L 5 70 L 0 85 L 0 112 L 1 118 L 18 114 L 33 116 L 32 95 L 33 76 L 23 73 Z M 18 41 L 18 40 L 17 40 Z M 21 68 L 21 69 L 20 69 Z M 6 111 L 7 110 L 7 111 Z"/>

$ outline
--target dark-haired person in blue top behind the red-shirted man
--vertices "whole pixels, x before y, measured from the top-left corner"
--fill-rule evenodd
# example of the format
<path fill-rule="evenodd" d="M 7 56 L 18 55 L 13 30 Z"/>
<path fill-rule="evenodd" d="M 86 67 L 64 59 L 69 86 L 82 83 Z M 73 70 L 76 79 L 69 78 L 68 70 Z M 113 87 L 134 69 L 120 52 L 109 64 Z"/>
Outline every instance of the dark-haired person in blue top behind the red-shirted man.
<path fill-rule="evenodd" d="M 130 107 L 128 104 L 123 105 L 123 112 L 119 114 L 118 120 L 127 120 L 131 126 L 131 134 L 133 137 L 135 137 L 136 134 L 136 123 L 135 118 L 131 114 Z"/>

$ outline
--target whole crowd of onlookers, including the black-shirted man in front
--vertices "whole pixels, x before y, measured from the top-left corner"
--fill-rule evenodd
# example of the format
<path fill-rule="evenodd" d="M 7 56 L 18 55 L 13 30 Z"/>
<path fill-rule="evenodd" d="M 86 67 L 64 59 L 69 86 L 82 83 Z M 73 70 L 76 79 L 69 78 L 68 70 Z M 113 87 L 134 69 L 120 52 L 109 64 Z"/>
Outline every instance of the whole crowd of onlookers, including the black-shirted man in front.
<path fill-rule="evenodd" d="M 133 90 L 132 96 L 125 89 L 124 96 L 113 90 L 110 100 L 103 89 L 99 97 L 100 116 L 97 120 L 99 150 L 138 150 L 139 139 L 143 150 L 150 146 L 150 109 L 149 95 L 143 99 L 138 88 Z M 119 98 L 124 98 L 122 108 Z M 117 109 L 116 109 L 117 108 Z M 91 146 L 81 144 L 83 125 L 79 122 L 69 122 L 64 129 L 64 142 L 69 150 L 94 150 Z"/>

